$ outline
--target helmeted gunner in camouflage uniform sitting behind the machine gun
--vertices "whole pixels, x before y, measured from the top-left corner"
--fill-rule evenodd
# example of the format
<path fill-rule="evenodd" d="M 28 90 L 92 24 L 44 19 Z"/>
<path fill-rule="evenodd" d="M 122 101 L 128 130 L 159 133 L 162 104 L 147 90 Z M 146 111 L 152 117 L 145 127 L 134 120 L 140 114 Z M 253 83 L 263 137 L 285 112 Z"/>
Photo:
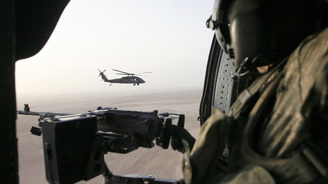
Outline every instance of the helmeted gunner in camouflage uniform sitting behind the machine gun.
<path fill-rule="evenodd" d="M 185 183 L 327 183 L 327 2 L 216 0 L 207 26 L 237 76 L 255 75 L 198 139 L 175 127 Z"/>

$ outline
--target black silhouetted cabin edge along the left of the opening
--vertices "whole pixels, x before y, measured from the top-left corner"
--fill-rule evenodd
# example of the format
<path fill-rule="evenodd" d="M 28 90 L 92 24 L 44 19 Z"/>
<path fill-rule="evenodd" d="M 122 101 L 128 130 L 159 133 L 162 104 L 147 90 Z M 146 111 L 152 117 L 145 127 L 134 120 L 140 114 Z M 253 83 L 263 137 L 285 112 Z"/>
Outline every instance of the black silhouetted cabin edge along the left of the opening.
<path fill-rule="evenodd" d="M 69 0 L 4 0 L 0 4 L 1 179 L 18 183 L 15 61 L 46 44 Z"/>

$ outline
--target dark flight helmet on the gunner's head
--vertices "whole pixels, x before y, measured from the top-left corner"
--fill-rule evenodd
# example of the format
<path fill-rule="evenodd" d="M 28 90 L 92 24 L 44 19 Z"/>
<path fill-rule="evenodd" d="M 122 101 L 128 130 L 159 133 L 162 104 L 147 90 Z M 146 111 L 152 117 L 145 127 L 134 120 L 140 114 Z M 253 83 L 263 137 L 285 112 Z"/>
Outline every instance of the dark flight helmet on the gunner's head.
<path fill-rule="evenodd" d="M 324 0 L 215 0 L 206 24 L 236 68 L 255 68 L 288 56 L 317 31 L 327 11 L 321 4 Z"/>

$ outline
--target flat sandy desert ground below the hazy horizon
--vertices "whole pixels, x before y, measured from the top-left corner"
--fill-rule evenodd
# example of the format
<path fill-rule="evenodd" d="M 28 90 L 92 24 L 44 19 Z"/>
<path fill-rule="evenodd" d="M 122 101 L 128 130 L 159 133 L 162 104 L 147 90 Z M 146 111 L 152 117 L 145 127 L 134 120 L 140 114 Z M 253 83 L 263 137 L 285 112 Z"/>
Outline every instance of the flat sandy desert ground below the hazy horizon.
<path fill-rule="evenodd" d="M 58 113 L 85 113 L 88 110 L 96 110 L 98 106 L 133 111 L 183 113 L 185 128 L 196 137 L 200 127 L 197 117 L 201 95 L 202 91 L 179 91 L 124 97 L 97 95 L 18 98 L 17 108 L 23 110 L 24 103 L 29 103 L 31 111 Z M 42 138 L 29 133 L 31 126 L 38 126 L 38 118 L 39 116 L 17 116 L 20 183 L 46 183 Z M 154 148 L 139 148 L 128 154 L 108 153 L 105 160 L 108 168 L 116 175 L 142 173 L 154 175 L 156 178 L 180 179 L 183 177 L 182 157 L 178 151 L 171 148 L 163 150 L 155 145 Z M 100 175 L 79 183 L 103 183 L 103 177 Z"/>

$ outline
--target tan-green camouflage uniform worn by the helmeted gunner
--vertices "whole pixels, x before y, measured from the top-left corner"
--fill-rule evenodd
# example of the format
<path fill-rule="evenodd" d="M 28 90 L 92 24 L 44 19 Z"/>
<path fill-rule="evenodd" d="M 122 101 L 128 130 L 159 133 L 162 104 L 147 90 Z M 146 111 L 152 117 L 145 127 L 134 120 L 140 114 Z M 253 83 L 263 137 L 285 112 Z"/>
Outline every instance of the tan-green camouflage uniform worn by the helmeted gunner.
<path fill-rule="evenodd" d="M 213 108 L 193 150 L 184 142 L 185 182 L 311 183 L 327 178 L 327 93 L 325 29 L 258 76 L 240 93 L 230 116 Z"/>

